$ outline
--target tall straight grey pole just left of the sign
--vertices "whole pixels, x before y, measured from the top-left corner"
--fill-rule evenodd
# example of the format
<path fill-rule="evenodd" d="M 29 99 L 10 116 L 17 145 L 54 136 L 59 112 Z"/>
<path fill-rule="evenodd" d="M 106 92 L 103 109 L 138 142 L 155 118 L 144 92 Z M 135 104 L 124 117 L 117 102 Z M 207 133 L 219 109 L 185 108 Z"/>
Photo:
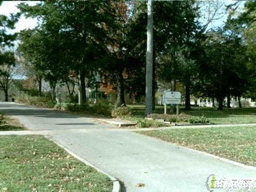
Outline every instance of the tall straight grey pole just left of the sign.
<path fill-rule="evenodd" d="M 146 110 L 145 115 L 153 111 L 153 1 L 148 0 L 147 52 L 146 52 Z"/>

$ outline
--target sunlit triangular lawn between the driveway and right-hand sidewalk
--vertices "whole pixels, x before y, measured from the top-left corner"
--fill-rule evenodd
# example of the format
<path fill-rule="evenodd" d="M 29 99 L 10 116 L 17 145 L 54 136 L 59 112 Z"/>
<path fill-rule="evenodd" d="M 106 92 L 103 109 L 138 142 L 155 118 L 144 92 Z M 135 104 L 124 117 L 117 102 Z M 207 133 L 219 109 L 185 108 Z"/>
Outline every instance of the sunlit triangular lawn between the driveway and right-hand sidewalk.
<path fill-rule="evenodd" d="M 177 128 L 138 133 L 256 166 L 256 126 Z"/>

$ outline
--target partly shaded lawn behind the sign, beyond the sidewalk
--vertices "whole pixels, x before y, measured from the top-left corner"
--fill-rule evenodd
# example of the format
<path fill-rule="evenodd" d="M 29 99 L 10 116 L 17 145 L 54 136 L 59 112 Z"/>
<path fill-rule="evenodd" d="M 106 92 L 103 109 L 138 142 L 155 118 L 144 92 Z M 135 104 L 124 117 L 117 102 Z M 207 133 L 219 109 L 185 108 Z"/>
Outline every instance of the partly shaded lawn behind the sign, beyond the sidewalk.
<path fill-rule="evenodd" d="M 145 113 L 145 106 L 129 105 L 132 108 L 135 117 L 142 117 Z M 154 113 L 163 114 L 164 107 L 156 106 Z M 217 110 L 216 108 L 192 107 L 191 111 L 180 107 L 180 113 L 201 116 L 204 115 L 214 124 L 238 124 L 238 123 L 256 123 L 256 108 L 231 108 Z"/>

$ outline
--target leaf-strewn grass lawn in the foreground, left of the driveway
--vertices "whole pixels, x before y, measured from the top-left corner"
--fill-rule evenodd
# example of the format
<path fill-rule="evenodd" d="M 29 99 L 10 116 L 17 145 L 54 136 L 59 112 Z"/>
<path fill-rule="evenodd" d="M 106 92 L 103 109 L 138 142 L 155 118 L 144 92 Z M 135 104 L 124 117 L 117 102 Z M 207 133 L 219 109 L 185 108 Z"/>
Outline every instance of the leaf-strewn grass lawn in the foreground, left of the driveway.
<path fill-rule="evenodd" d="M 104 174 L 36 135 L 0 136 L 0 191 L 111 191 Z"/>

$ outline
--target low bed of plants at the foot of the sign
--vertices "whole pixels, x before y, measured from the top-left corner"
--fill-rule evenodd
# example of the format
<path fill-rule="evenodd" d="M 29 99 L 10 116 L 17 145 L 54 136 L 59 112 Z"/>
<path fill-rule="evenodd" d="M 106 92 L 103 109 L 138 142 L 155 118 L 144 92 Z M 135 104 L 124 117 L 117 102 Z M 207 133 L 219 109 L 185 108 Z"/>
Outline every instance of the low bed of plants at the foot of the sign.
<path fill-rule="evenodd" d="M 168 115 L 168 114 L 150 114 L 148 118 L 164 119 L 166 122 L 172 123 L 208 123 L 209 120 L 205 116 L 193 116 L 187 114 Z"/>

